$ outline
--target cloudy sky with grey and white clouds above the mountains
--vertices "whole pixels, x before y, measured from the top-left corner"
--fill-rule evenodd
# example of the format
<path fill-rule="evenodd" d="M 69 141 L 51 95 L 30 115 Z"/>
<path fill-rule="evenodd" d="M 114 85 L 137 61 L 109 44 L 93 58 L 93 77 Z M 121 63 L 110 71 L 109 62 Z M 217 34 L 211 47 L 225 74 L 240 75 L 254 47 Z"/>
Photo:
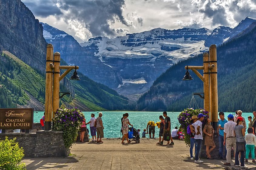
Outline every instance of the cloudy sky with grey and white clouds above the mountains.
<path fill-rule="evenodd" d="M 40 22 L 79 43 L 153 28 L 235 27 L 256 18 L 256 0 L 22 0 Z"/>

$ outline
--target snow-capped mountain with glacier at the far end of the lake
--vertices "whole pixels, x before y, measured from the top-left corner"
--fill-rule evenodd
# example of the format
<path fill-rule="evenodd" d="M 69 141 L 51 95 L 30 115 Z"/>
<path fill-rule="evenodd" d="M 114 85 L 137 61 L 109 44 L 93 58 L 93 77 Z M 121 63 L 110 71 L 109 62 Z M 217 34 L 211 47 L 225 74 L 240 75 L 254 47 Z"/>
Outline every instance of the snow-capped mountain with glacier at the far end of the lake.
<path fill-rule="evenodd" d="M 147 91 L 155 79 L 171 65 L 204 52 L 211 44 L 220 45 L 239 34 L 254 21 L 254 18 L 247 17 L 233 29 L 224 26 L 214 30 L 156 28 L 113 39 L 94 37 L 85 43 L 80 43 L 80 47 L 73 37 L 72 42 L 63 44 L 64 39 L 71 37 L 65 32 L 49 25 L 43 27 L 45 39 L 53 43 L 55 50 L 57 48 L 64 53 L 66 62 L 79 63 L 80 68 L 90 67 L 91 72 L 88 72 L 88 69 L 81 71 L 91 79 L 116 89 L 122 95 L 136 95 Z M 75 46 L 78 47 L 74 52 L 80 51 L 76 62 L 71 57 L 70 44 L 76 44 Z M 94 60 L 98 67 L 88 66 L 89 60 Z M 99 69 L 103 66 L 104 69 Z M 109 71 L 111 76 L 106 77 L 105 72 Z"/>

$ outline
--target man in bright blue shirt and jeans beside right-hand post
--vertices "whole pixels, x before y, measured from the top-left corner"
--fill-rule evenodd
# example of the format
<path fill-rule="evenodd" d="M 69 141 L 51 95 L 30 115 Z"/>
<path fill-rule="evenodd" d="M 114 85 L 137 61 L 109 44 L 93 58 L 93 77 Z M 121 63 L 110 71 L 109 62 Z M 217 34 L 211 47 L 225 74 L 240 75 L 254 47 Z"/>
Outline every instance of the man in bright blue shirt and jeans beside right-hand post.
<path fill-rule="evenodd" d="M 218 129 L 217 129 L 217 133 L 219 136 L 219 157 L 218 159 L 223 159 L 226 160 L 226 155 L 227 155 L 227 149 L 226 146 L 223 145 L 224 142 L 224 124 L 228 122 L 228 120 L 225 119 L 224 117 L 224 113 L 220 112 L 219 113 L 219 121 L 218 121 Z M 223 147 L 225 147 L 225 155 L 223 156 Z"/>

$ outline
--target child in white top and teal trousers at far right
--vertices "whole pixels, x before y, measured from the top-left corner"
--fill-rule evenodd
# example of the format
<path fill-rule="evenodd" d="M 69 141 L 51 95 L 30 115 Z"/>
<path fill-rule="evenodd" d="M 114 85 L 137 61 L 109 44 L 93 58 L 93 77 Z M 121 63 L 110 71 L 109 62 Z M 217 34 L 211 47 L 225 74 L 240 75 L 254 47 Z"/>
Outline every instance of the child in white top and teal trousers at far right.
<path fill-rule="evenodd" d="M 248 134 L 245 135 L 244 140 L 246 141 L 246 153 L 245 153 L 245 162 L 248 162 L 249 153 L 251 151 L 252 163 L 256 163 L 254 160 L 254 147 L 256 146 L 256 138 L 251 127 L 247 130 Z"/>

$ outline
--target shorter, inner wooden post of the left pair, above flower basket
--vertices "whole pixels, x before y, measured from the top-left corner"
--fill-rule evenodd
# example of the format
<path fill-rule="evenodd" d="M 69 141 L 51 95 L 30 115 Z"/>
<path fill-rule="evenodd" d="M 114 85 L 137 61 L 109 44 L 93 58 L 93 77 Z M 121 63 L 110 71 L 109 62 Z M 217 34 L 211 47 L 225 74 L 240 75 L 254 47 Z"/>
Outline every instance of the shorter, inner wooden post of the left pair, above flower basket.
<path fill-rule="evenodd" d="M 60 53 L 54 53 L 54 73 L 53 73 L 53 98 L 52 98 L 52 118 L 59 109 L 59 92 L 60 92 Z"/>

